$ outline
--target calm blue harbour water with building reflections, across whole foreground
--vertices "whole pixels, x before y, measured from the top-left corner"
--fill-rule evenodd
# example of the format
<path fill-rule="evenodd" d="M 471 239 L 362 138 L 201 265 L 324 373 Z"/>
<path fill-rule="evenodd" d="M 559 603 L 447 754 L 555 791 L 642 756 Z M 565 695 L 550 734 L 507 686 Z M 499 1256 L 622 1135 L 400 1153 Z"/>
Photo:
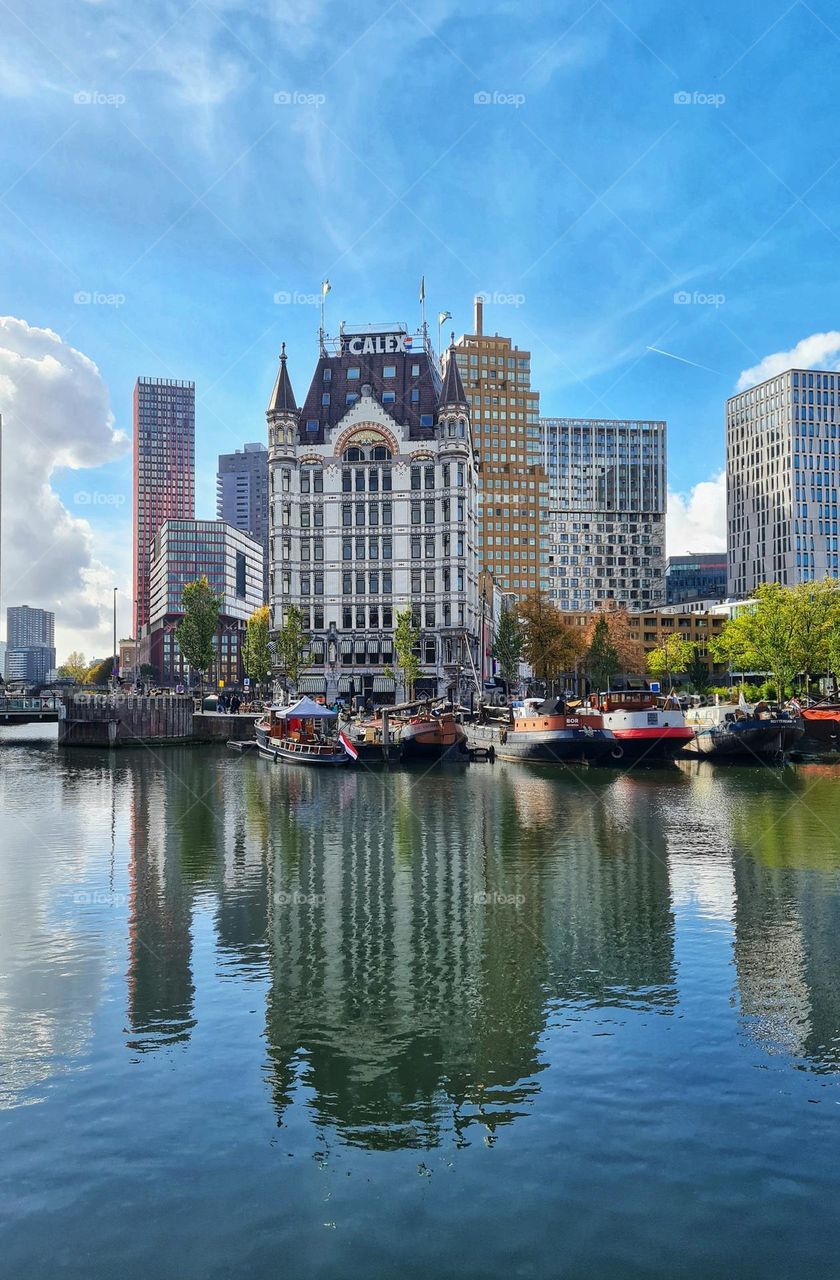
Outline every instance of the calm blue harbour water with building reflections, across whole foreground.
<path fill-rule="evenodd" d="M 837 1275 L 839 769 L 0 733 L 0 1274 Z"/>

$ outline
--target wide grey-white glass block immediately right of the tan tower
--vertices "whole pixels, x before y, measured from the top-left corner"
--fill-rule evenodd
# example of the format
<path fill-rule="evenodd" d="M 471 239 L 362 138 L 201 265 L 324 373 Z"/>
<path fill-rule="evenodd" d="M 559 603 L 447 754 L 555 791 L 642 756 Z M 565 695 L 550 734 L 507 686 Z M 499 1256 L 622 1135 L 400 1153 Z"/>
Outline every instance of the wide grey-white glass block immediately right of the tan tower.
<path fill-rule="evenodd" d="M 544 417 L 549 594 L 561 609 L 665 598 L 666 424 Z"/>

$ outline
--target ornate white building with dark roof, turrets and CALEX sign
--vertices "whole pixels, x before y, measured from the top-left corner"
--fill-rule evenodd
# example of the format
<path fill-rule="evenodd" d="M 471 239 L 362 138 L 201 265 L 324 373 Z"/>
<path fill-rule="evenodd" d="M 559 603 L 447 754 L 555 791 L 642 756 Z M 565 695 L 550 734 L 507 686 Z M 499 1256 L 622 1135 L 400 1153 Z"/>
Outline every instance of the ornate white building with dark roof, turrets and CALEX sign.
<path fill-rule="evenodd" d="M 303 612 L 311 666 L 298 690 L 378 700 L 397 614 L 420 628 L 419 692 L 466 685 L 478 653 L 478 472 L 452 348 L 402 325 L 342 325 L 298 408 L 286 351 L 266 411 L 271 626 Z M 469 650 L 469 655 L 467 655 Z"/>

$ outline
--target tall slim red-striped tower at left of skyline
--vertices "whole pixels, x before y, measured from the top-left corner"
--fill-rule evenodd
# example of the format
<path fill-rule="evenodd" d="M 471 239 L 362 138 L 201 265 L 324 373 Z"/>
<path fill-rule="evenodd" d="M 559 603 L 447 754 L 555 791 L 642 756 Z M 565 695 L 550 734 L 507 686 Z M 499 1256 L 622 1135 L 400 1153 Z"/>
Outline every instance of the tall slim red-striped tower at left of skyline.
<path fill-rule="evenodd" d="M 149 549 L 164 520 L 196 513 L 196 384 L 138 378 L 134 385 L 134 635 L 149 622 Z"/>

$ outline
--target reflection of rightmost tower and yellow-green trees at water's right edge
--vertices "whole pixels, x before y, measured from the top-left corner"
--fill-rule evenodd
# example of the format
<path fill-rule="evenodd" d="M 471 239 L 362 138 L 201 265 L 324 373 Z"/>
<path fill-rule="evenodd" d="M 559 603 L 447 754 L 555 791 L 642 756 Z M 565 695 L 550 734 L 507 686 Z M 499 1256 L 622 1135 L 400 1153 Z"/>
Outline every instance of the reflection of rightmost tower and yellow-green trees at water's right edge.
<path fill-rule="evenodd" d="M 791 803 L 790 788 L 800 803 Z M 840 800 L 836 780 L 791 777 L 740 799 L 735 965 L 741 1015 L 768 1052 L 840 1069 Z"/>

